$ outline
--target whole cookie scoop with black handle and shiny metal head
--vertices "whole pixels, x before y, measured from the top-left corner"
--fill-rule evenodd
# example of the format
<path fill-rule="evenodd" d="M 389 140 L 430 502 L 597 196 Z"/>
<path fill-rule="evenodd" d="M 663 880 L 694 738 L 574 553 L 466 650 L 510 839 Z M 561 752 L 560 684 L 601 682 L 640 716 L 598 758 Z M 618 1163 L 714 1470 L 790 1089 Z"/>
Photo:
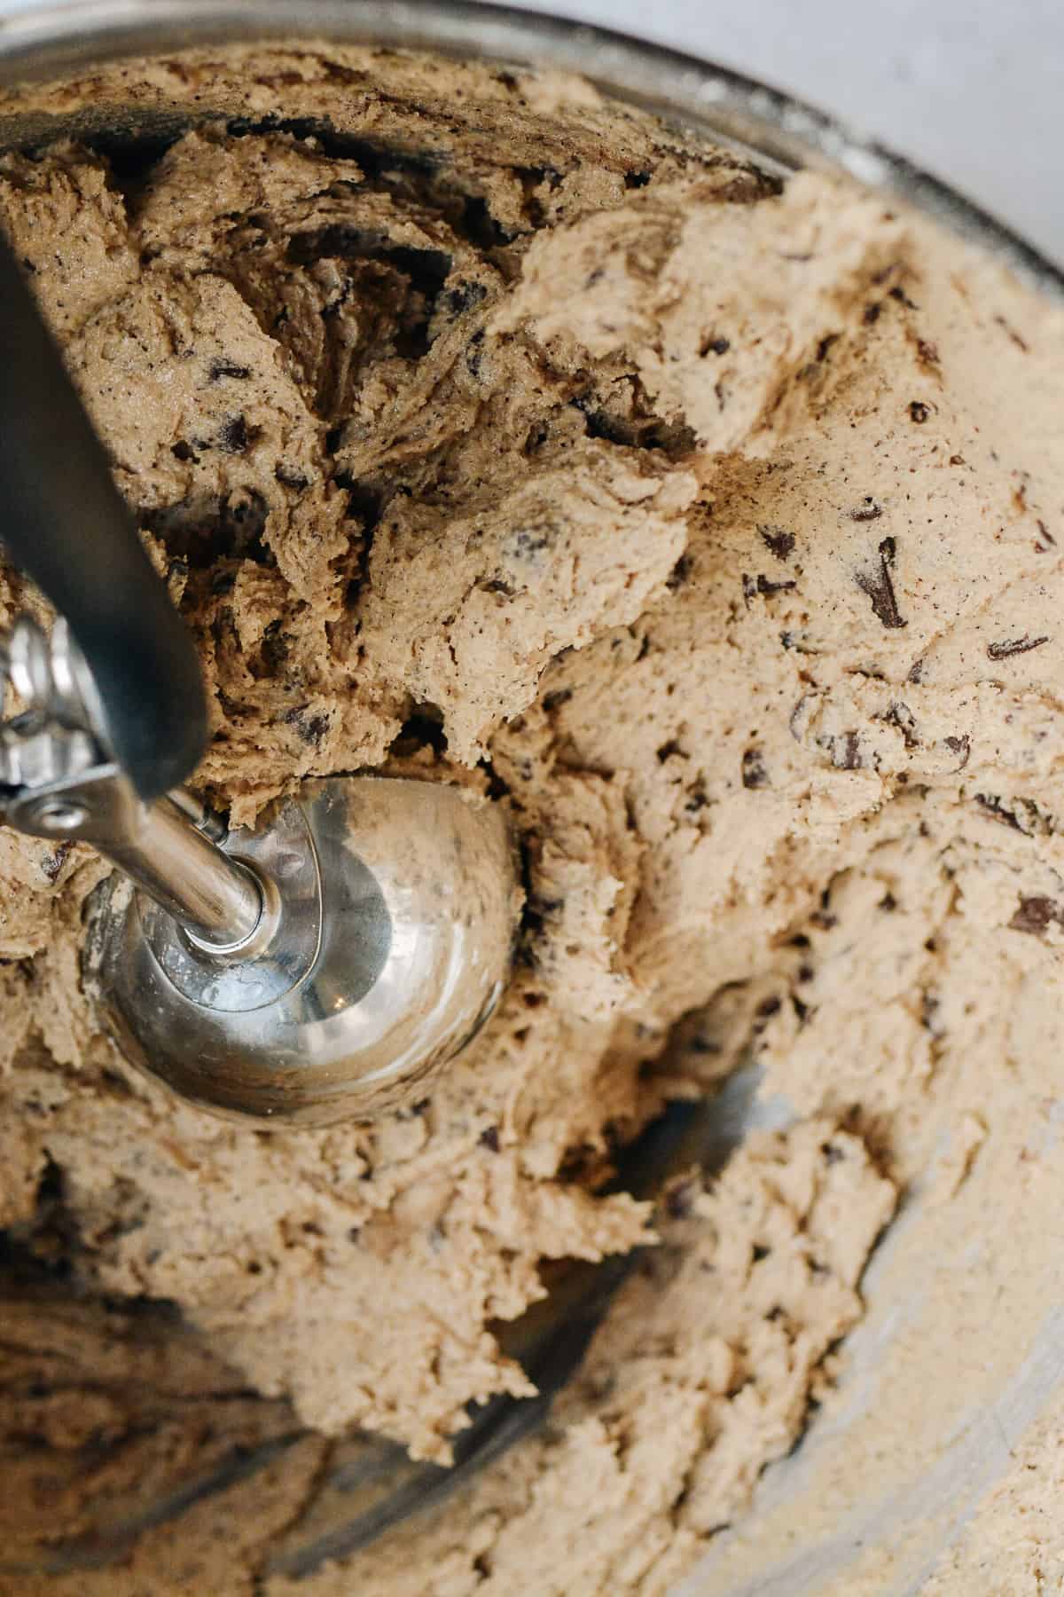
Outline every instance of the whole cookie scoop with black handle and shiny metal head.
<path fill-rule="evenodd" d="M 174 789 L 206 738 L 191 640 L 0 251 L 0 538 L 61 610 L 0 639 L 0 816 L 93 843 L 85 981 L 126 1056 L 220 1113 L 327 1124 L 402 1102 L 477 1033 L 518 891 L 498 805 L 306 783 L 227 832 Z"/>

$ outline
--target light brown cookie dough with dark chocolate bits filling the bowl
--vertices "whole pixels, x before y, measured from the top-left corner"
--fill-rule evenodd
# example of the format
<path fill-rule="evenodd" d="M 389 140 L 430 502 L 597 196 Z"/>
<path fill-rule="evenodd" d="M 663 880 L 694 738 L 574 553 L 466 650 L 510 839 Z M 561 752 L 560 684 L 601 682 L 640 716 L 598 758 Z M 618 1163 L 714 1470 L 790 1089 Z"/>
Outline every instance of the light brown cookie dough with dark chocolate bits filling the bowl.
<path fill-rule="evenodd" d="M 549 73 L 271 46 L 8 117 L 0 222 L 201 648 L 196 786 L 238 824 L 308 775 L 474 786 L 526 905 L 429 1096 L 263 1134 L 123 1064 L 78 987 L 100 864 L 0 830 L 8 1547 L 309 1428 L 118 1567 L 0 1591 L 665 1592 L 831 1409 L 900 1201 L 994 1169 L 1040 1246 L 995 1124 L 1064 1097 L 1061 316 Z M 35 604 L 0 572 L 0 618 Z M 750 1059 L 778 1129 L 656 1209 L 601 1193 Z M 257 1583 L 330 1437 L 445 1460 L 530 1391 L 496 1333 L 544 1265 L 651 1238 L 549 1429 Z M 1059 1525 L 986 1514 L 997 1573 L 928 1591 L 1056 1589 Z"/>

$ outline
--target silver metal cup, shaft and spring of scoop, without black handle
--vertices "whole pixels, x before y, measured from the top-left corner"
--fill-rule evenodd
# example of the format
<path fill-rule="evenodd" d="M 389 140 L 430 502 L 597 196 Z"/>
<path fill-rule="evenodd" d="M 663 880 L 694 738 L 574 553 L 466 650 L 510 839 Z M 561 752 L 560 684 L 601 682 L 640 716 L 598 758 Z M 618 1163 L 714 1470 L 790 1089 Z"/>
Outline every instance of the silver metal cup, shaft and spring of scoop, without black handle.
<path fill-rule="evenodd" d="M 498 805 L 332 778 L 227 834 L 107 760 L 62 623 L 49 642 L 22 618 L 3 658 L 29 703 L 0 725 L 3 818 L 121 869 L 89 904 L 85 982 L 134 1064 L 204 1108 L 314 1126 L 404 1102 L 477 1033 L 518 904 Z"/>

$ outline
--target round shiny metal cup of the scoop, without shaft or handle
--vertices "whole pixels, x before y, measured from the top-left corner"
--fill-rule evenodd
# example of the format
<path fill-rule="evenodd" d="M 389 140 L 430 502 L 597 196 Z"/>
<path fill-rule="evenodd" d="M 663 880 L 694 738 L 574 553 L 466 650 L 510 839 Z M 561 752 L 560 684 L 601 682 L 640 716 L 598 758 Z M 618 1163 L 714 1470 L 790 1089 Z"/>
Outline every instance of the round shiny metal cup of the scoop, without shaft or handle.
<path fill-rule="evenodd" d="M 91 909 L 86 979 L 123 1052 L 182 1097 L 286 1124 L 376 1115 L 480 1030 L 514 923 L 495 805 L 335 778 L 220 846 L 262 893 L 242 942 L 211 945 L 121 877 Z"/>

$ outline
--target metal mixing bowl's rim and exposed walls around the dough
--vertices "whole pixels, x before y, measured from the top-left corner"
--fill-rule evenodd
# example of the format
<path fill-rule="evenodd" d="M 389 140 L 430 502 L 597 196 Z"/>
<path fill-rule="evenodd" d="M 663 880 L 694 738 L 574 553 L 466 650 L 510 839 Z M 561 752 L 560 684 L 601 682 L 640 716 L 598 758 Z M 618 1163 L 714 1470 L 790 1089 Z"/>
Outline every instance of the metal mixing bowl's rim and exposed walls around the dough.
<path fill-rule="evenodd" d="M 1064 276 L 1023 240 L 943 184 L 764 85 L 683 54 L 600 29 L 495 6 L 445 0 L 69 0 L 22 10 L 0 6 L 0 89 L 27 80 L 62 80 L 121 56 L 247 42 L 317 38 L 434 50 L 499 64 L 581 72 L 606 94 L 635 102 L 696 134 L 740 149 L 763 166 L 791 172 L 834 168 L 930 216 L 1013 268 L 1035 291 L 1064 302 Z M 57 133 L 128 129 L 121 104 L 54 123 L 0 113 L 0 147 Z M 187 107 L 160 110 L 160 125 Z M 167 123 L 169 117 L 169 123 Z M 137 121 L 144 131 L 144 117 Z M 700 1137 L 707 1161 L 719 1158 L 751 1118 L 764 1115 L 747 1078 L 681 1126 Z M 1051 1150 L 1064 1121 L 1064 1084 L 1046 1076 L 1038 1137 Z M 1046 1107 L 1048 1105 L 1048 1107 Z M 1011 1113 L 1027 1115 L 1024 1105 Z M 689 1143 L 688 1143 L 689 1151 Z M 636 1185 L 652 1175 L 660 1147 L 640 1143 L 627 1161 Z M 847 1340 L 842 1377 L 802 1445 L 769 1468 L 743 1520 L 718 1535 L 681 1584 L 700 1597 L 823 1597 L 826 1592 L 916 1592 L 965 1533 L 1010 1468 L 1032 1426 L 1064 1425 L 1064 1247 L 973 1250 L 975 1188 L 946 1207 L 928 1204 L 917 1185 L 865 1276 L 868 1314 Z M 1048 1222 L 1032 1207 L 1031 1236 Z M 978 1222 L 975 1226 L 978 1234 Z M 1008 1254 L 1008 1257 L 1005 1257 Z M 1016 1260 L 1029 1254 L 1023 1281 Z M 530 1367 L 544 1399 L 491 1409 L 461 1442 L 463 1472 L 490 1463 L 510 1439 L 542 1417 L 546 1397 L 585 1346 L 589 1326 L 608 1300 L 617 1271 L 579 1278 L 554 1302 L 554 1319 L 528 1340 Z M 946 1281 L 970 1290 L 941 1290 Z M 1011 1316 L 1010 1353 L 1000 1356 L 1000 1316 Z M 560 1338 L 560 1340 L 558 1340 Z M 995 1351 L 997 1349 L 997 1351 Z M 552 1362 L 554 1359 L 554 1362 Z M 962 1378 L 956 1378 L 960 1367 Z M 954 1378 L 940 1380 L 949 1369 Z M 892 1396 L 920 1391 L 895 1423 Z M 121 1555 L 139 1525 L 179 1517 L 206 1492 L 241 1472 L 276 1463 L 297 1434 L 282 1415 L 258 1450 L 215 1460 L 160 1495 L 139 1520 L 57 1551 L 49 1567 L 77 1570 Z M 459 1479 L 459 1477 L 455 1477 Z M 313 1514 L 295 1543 L 278 1552 L 279 1570 L 305 1571 L 330 1554 L 365 1544 L 405 1514 L 423 1509 L 453 1484 L 432 1466 L 412 1466 L 380 1442 L 345 1444 Z M 796 1533 L 796 1527 L 801 1532 Z M 16 1587 L 11 1587 L 16 1589 Z M 960 1587 L 951 1587 L 960 1589 Z"/>

